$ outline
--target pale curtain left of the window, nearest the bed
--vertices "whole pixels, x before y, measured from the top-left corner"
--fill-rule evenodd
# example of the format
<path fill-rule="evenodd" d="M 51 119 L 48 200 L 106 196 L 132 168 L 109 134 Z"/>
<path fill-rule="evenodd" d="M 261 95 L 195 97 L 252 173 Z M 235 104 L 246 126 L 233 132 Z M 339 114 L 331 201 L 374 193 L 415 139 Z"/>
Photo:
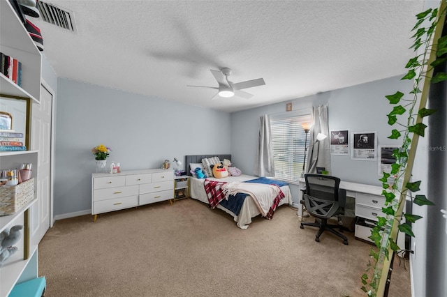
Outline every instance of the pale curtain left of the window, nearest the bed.
<path fill-rule="evenodd" d="M 257 171 L 260 177 L 274 176 L 272 133 L 268 114 L 259 119 Z"/>

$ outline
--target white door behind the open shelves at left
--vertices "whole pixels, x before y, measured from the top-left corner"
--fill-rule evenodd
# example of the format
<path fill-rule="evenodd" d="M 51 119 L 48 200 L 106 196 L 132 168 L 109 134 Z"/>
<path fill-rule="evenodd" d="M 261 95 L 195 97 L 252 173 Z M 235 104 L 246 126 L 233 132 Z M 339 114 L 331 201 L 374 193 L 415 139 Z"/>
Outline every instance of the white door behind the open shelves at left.
<path fill-rule="evenodd" d="M 31 244 L 38 244 L 52 224 L 52 119 L 53 91 L 41 84 L 41 104 L 34 103 L 31 124 L 31 150 L 39 151 L 38 202 L 31 208 Z M 34 165 L 33 165 L 34 166 Z"/>

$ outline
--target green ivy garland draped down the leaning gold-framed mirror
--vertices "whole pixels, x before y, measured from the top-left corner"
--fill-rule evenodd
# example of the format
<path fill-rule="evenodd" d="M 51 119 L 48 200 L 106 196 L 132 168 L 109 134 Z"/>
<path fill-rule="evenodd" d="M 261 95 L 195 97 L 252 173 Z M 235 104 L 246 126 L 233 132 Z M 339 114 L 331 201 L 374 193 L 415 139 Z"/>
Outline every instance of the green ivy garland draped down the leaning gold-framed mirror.
<path fill-rule="evenodd" d="M 434 109 L 425 108 L 430 84 L 436 84 L 447 80 L 447 73 L 437 73 L 434 77 L 434 67 L 447 63 L 447 36 L 441 37 L 445 22 L 447 0 L 442 0 L 439 8 L 428 9 L 416 15 L 415 31 L 411 37 L 414 40 L 413 48 L 416 56 L 406 63 L 408 73 L 402 79 L 413 79 L 413 89 L 409 92 L 409 98 L 404 93 L 397 91 L 388 95 L 393 110 L 388 114 L 388 124 L 398 126 L 391 131 L 390 139 L 402 139 L 402 146 L 393 151 L 395 163 L 390 173 L 383 173 L 380 181 L 383 184 L 382 195 L 386 198 L 386 204 L 382 208 L 386 218 L 379 217 L 379 222 L 372 228 L 369 238 L 374 241 L 376 249 L 372 248 L 369 256 L 371 260 L 367 264 L 367 271 L 361 277 L 362 290 L 368 296 L 383 296 L 385 284 L 390 268 L 390 257 L 394 252 L 401 250 L 396 243 L 398 231 L 413 236 L 411 224 L 422 218 L 419 215 L 403 214 L 407 191 L 418 192 L 421 181 L 410 182 L 413 161 L 418 146 L 418 137 L 424 137 L 427 125 L 423 123 L 425 116 L 430 116 Z M 427 24 L 427 26 L 425 26 Z M 418 54 L 418 52 L 421 52 Z M 416 109 L 416 104 L 419 107 Z M 402 123 L 399 116 L 408 114 Z M 414 204 L 418 206 L 434 205 L 425 195 L 410 195 Z M 402 215 L 405 222 L 401 223 Z"/>

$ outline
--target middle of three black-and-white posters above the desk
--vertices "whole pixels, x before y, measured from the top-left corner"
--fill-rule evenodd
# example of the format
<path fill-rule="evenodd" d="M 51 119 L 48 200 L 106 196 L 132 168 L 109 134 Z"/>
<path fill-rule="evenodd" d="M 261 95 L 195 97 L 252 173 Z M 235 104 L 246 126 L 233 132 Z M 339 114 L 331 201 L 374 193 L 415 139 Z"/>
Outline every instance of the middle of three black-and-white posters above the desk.
<path fill-rule="evenodd" d="M 377 131 L 372 132 L 353 132 L 352 134 L 352 153 L 353 160 L 376 160 L 377 155 Z"/>

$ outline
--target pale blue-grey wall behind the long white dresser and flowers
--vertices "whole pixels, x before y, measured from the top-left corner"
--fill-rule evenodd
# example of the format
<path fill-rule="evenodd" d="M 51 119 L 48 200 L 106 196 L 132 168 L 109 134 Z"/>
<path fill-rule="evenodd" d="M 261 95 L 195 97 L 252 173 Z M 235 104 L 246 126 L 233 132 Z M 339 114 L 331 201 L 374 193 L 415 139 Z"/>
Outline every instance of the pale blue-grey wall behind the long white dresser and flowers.
<path fill-rule="evenodd" d="M 91 208 L 91 148 L 112 148 L 122 170 L 184 155 L 230 153 L 230 114 L 59 78 L 54 215 Z"/>

